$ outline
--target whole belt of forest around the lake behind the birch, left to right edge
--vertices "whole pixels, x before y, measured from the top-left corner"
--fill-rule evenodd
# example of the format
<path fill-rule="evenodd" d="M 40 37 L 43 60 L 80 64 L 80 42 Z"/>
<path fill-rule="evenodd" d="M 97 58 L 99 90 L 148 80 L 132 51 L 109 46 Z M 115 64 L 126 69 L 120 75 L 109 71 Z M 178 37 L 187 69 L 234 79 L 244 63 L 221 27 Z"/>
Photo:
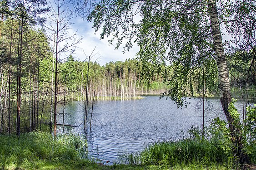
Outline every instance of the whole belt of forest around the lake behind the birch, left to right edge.
<path fill-rule="evenodd" d="M 193 96 L 202 96 L 203 91 L 206 96 L 218 95 L 216 68 L 211 72 L 191 68 L 191 75 L 183 75 L 175 71 L 173 64 L 155 67 L 137 59 L 109 62 L 105 66 L 78 61 L 72 55 L 59 56 L 56 61 L 55 48 L 50 47 L 45 31 L 25 22 L 21 31 L 20 19 L 4 15 L 0 21 L 0 133 L 15 130 L 18 111 L 23 131 L 40 129 L 43 122 L 52 124 L 54 87 L 58 104 L 85 101 L 86 96 L 90 101 L 160 95 L 171 85 L 180 87 L 175 82 L 182 83 L 182 78 L 189 78 L 185 87 L 193 87 Z M 235 55 L 236 60 L 229 61 L 232 92 L 255 98 L 255 70 L 250 74 L 251 82 L 245 81 L 250 60 L 242 59 L 239 53 Z M 182 69 L 180 65 L 176 68 Z"/>

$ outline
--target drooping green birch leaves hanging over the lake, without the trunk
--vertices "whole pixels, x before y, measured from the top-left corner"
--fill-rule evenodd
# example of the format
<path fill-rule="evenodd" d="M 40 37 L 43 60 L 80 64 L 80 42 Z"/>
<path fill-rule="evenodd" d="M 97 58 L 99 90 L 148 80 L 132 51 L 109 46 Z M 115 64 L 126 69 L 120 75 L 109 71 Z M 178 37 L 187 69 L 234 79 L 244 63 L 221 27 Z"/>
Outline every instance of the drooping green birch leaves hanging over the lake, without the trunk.
<path fill-rule="evenodd" d="M 166 78 L 170 90 L 162 97 L 170 97 L 178 107 L 186 105 L 186 97 L 194 97 L 195 89 L 202 91 L 204 79 L 206 88 L 216 92 L 217 70 L 205 1 L 103 0 L 92 6 L 87 19 L 95 31 L 102 28 L 101 38 L 111 36 L 110 44 L 116 42 L 116 48 L 127 39 L 124 51 L 133 41 L 138 44 L 143 76 L 151 78 L 171 64 L 172 72 Z M 140 20 L 136 22 L 134 16 L 141 16 Z"/>

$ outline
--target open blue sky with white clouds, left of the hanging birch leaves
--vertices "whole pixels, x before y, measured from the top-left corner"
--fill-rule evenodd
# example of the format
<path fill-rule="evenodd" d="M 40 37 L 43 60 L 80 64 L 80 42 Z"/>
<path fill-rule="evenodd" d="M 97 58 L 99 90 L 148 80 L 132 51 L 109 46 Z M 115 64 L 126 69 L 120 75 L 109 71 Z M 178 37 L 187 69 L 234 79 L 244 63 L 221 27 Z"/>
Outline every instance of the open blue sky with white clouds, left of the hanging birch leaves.
<path fill-rule="evenodd" d="M 49 6 L 50 8 L 56 9 L 54 0 L 49 0 Z M 64 10 L 65 8 L 74 10 L 74 6 L 71 4 L 64 5 L 61 10 Z M 54 12 L 51 11 L 48 13 L 48 15 L 45 15 L 47 18 L 46 24 L 50 25 L 51 19 L 49 19 L 49 17 L 53 18 L 51 15 L 53 13 Z M 125 51 L 125 53 L 122 51 L 123 46 L 120 46 L 119 49 L 115 49 L 115 44 L 109 45 L 108 38 L 100 39 L 100 30 L 95 33 L 95 29 L 92 28 L 93 24 L 82 19 L 80 16 L 71 19 L 70 23 L 72 24 L 69 26 L 70 29 L 67 31 L 68 36 L 72 36 L 76 32 L 76 39 L 83 37 L 80 44 L 76 44 L 78 48 L 74 53 L 72 53 L 72 56 L 77 60 L 86 61 L 86 56 L 88 57 L 90 54 L 92 54 L 93 58 L 91 61 L 96 61 L 102 66 L 110 61 L 125 61 L 125 59 L 128 58 L 136 58 L 136 53 L 139 52 L 139 47 L 137 44 L 134 44 L 133 47 L 129 49 L 129 51 Z M 52 37 L 49 29 L 48 31 L 46 29 L 46 33 L 48 36 Z M 53 45 L 53 42 L 50 42 L 50 44 Z"/>

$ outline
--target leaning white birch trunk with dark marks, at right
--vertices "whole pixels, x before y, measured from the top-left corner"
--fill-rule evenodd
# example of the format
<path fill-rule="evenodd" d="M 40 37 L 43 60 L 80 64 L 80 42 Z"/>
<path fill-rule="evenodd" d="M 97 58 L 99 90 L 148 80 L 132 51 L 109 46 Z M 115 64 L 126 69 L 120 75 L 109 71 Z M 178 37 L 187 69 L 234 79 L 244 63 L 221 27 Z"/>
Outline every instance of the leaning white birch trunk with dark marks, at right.
<path fill-rule="evenodd" d="M 236 158 L 239 158 L 240 163 L 248 162 L 247 156 L 242 151 L 242 134 L 240 128 L 240 119 L 235 120 L 231 113 L 228 111 L 228 107 L 231 104 L 231 92 L 229 73 L 226 62 L 226 55 L 222 44 L 220 23 L 218 20 L 218 12 L 216 6 L 216 0 L 208 0 L 209 15 L 211 21 L 211 34 L 213 39 L 214 51 L 216 55 L 216 63 L 218 68 L 219 78 L 219 90 L 220 99 L 223 111 L 226 115 L 228 125 L 231 131 L 231 141 L 233 143 L 233 154 Z"/>

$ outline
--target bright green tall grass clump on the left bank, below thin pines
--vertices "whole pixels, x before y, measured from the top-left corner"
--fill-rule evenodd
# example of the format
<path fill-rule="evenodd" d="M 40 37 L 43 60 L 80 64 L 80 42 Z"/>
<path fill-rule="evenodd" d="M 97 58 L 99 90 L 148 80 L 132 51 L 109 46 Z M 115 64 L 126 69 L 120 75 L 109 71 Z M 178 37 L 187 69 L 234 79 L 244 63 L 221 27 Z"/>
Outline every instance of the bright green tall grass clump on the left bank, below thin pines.
<path fill-rule="evenodd" d="M 56 140 L 44 132 L 24 133 L 20 137 L 1 135 L 0 167 L 37 160 L 78 160 L 87 155 L 86 149 L 86 141 L 75 135 L 60 135 Z"/>

